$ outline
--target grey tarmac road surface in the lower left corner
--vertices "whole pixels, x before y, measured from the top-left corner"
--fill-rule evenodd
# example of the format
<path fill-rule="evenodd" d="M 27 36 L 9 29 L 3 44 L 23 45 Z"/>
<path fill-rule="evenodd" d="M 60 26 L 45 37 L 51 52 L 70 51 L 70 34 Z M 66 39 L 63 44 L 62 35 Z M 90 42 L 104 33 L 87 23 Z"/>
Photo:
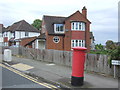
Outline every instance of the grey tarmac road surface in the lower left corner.
<path fill-rule="evenodd" d="M 1 66 L 0 66 L 1 68 Z M 51 86 L 44 82 L 38 82 L 19 71 L 2 67 L 2 88 L 46 88 L 51 90 Z"/>

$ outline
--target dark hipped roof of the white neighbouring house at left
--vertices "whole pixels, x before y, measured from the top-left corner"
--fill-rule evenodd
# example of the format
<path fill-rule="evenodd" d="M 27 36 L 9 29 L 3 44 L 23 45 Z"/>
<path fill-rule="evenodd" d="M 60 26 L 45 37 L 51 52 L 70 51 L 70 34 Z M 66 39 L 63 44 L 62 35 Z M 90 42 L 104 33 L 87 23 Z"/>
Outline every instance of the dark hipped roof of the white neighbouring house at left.
<path fill-rule="evenodd" d="M 35 27 L 27 23 L 25 20 L 21 20 L 19 22 L 14 23 L 13 25 L 8 27 L 8 31 L 26 31 L 26 32 L 40 32 Z"/>

